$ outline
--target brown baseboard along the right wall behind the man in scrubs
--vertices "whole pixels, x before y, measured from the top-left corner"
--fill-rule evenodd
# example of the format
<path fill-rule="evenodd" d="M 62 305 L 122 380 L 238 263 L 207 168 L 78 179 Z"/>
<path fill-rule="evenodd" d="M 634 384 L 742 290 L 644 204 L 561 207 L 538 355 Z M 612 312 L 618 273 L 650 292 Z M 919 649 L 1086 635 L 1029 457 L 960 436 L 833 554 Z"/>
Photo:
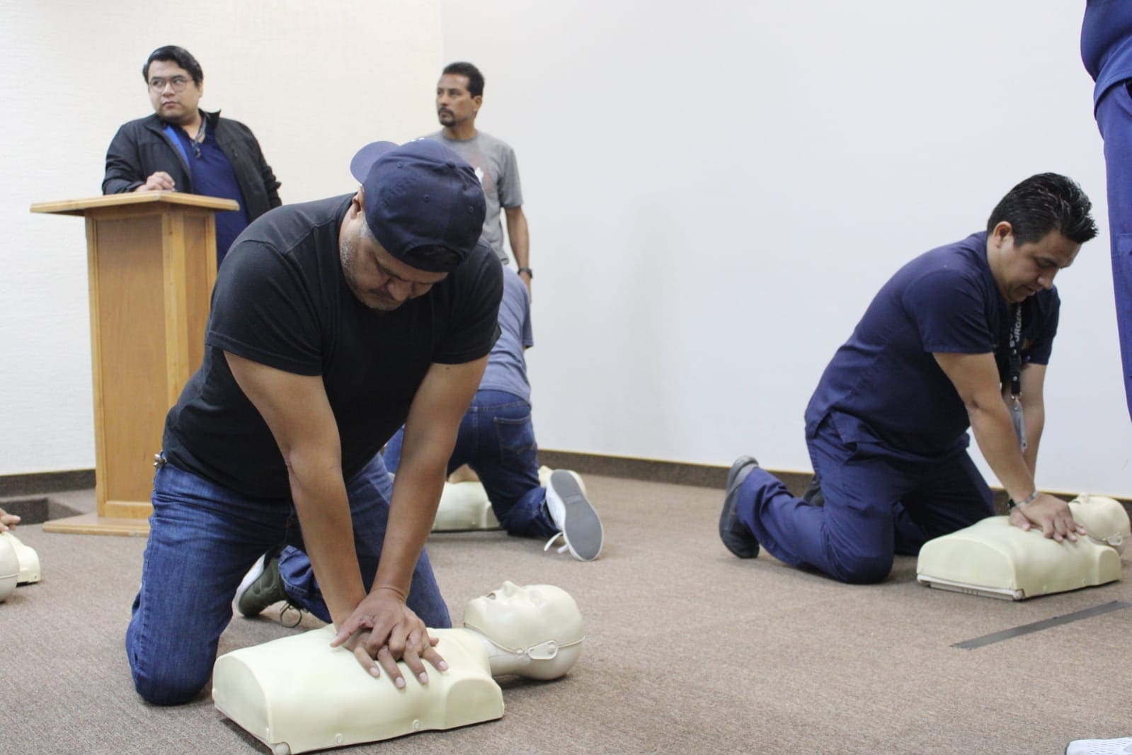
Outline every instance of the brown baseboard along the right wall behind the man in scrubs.
<path fill-rule="evenodd" d="M 727 482 L 726 466 L 714 464 L 689 464 L 686 462 L 668 462 L 655 458 L 638 458 L 635 456 L 607 456 L 601 454 L 583 454 L 573 451 L 551 451 L 539 448 L 539 461 L 552 469 L 568 469 L 575 472 L 586 472 L 589 474 L 604 474 L 606 477 L 626 478 L 629 480 L 648 480 L 651 482 L 666 482 L 670 484 L 691 484 L 701 488 L 720 488 Z M 767 470 L 777 477 L 795 496 L 800 496 L 809 484 L 811 472 L 790 472 L 782 470 Z M 1009 496 L 1002 488 L 992 486 L 994 492 L 995 511 L 1000 514 L 1006 513 L 1006 500 Z M 1078 494 L 1054 492 L 1054 495 L 1070 500 Z M 1117 498 L 1132 517 L 1132 500 Z M 722 501 L 720 501 L 722 504 Z"/>

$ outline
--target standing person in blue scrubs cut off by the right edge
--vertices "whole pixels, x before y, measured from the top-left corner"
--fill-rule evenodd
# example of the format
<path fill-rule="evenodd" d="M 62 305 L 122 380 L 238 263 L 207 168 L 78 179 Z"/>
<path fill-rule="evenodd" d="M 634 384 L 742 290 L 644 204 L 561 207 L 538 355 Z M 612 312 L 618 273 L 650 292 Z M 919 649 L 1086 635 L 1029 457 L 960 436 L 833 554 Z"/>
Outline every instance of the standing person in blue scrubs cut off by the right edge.
<path fill-rule="evenodd" d="M 1089 0 L 1081 25 L 1081 59 L 1097 83 L 1094 114 L 1105 140 L 1116 327 L 1132 417 L 1132 2 Z"/>

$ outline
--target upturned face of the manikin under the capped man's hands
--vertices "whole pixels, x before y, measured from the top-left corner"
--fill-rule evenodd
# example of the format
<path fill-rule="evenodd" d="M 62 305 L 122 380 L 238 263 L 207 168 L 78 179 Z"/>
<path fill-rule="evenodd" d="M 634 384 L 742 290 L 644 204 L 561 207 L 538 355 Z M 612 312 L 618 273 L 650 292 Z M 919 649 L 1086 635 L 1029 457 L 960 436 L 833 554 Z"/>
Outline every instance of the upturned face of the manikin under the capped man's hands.
<path fill-rule="evenodd" d="M 504 582 L 468 602 L 464 626 L 520 654 L 548 641 L 565 645 L 583 636 L 577 603 L 549 584 Z"/>

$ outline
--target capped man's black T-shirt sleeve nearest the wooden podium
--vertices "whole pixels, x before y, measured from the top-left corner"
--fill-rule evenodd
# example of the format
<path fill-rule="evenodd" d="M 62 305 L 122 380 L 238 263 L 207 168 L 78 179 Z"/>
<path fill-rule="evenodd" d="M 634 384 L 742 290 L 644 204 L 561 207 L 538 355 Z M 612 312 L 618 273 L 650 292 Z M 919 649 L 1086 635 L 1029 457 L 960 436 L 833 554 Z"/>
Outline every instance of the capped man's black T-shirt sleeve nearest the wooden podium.
<path fill-rule="evenodd" d="M 292 255 L 233 246 L 213 292 L 205 343 L 295 375 L 321 375 L 319 317 Z"/>

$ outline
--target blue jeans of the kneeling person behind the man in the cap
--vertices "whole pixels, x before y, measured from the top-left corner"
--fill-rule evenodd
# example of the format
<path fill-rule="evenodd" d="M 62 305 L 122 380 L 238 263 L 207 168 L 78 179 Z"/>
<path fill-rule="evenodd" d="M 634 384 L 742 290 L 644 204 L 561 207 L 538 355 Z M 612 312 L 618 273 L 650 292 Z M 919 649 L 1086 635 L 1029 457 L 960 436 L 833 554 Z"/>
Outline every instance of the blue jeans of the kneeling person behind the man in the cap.
<path fill-rule="evenodd" d="M 396 474 L 404 429 L 385 447 L 385 463 Z M 479 475 L 499 525 L 508 534 L 549 538 L 558 532 L 543 505 L 539 484 L 539 447 L 531 404 L 505 391 L 478 391 L 464 413 L 448 473 L 468 464 Z"/>

